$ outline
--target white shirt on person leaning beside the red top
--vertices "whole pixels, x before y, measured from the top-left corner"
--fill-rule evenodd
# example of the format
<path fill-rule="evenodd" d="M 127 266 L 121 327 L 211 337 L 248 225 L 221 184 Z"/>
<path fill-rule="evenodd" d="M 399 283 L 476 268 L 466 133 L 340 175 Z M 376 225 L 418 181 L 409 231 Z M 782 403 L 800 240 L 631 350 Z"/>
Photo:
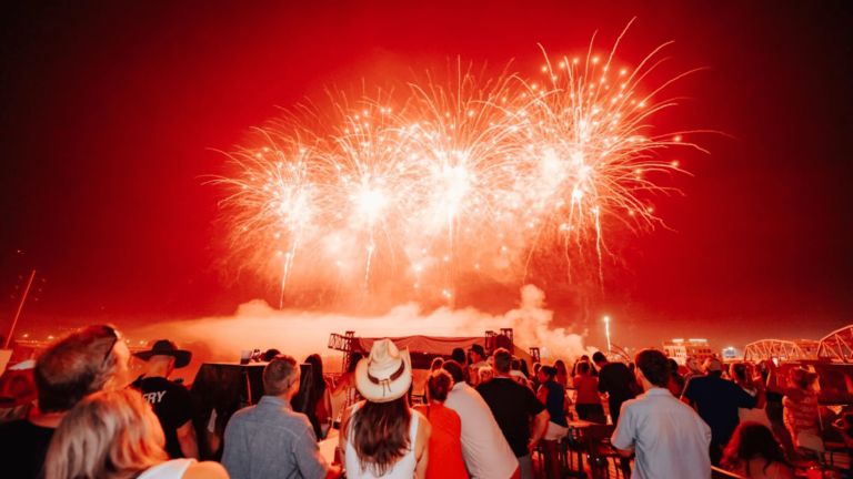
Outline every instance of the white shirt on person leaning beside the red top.
<path fill-rule="evenodd" d="M 444 406 L 462 419 L 462 457 L 472 478 L 509 479 L 519 460 L 480 393 L 464 383 L 453 385 Z"/>

